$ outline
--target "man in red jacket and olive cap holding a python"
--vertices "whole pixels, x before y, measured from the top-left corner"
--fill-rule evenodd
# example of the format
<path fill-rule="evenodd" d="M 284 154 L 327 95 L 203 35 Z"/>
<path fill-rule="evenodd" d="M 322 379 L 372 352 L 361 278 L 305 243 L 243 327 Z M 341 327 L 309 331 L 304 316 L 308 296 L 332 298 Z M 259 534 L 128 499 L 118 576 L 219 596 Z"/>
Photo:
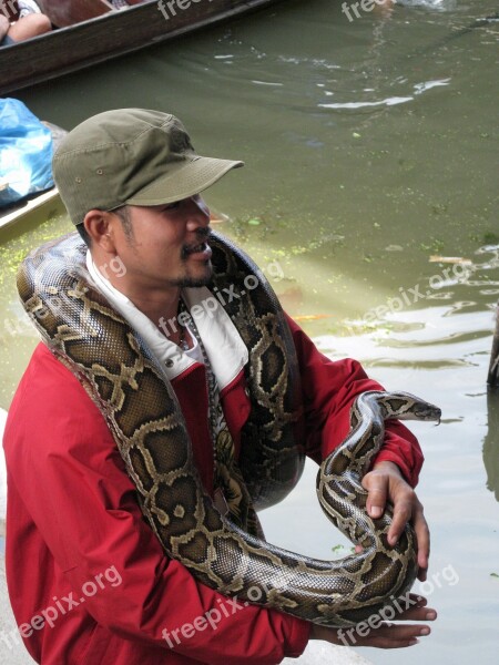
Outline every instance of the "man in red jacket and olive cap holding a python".
<path fill-rule="evenodd" d="M 212 274 L 210 213 L 201 192 L 238 166 L 198 156 L 177 119 L 140 109 L 83 122 L 53 161 L 61 196 L 89 247 L 91 280 L 164 367 L 201 480 L 222 503 L 230 498 L 226 491 L 220 497 L 224 488 L 214 482 L 212 441 L 226 427 L 236 451 L 241 443 L 251 410 L 247 349 L 223 308 L 191 328 L 179 306 L 193 307 Z M 179 325 L 165 328 L 165 321 Z M 319 461 L 348 431 L 355 397 L 379 386 L 353 360 L 329 361 L 291 319 L 288 325 L 303 380 L 306 451 Z M 207 387 L 210 377 L 215 382 Z M 208 422 L 213 400 L 222 411 Z M 4 448 L 9 593 L 37 662 L 271 665 L 298 656 L 309 638 L 339 642 L 333 628 L 256 605 L 227 605 L 228 598 L 164 555 L 104 418 L 43 345 L 13 399 Z M 391 423 L 365 485 L 373 516 L 387 500 L 395 505 L 391 543 L 413 521 L 424 577 L 429 535 L 411 489 L 421 460 L 414 437 Z M 398 618 L 434 620 L 424 603 Z M 357 643 L 408 646 L 428 632 L 420 624 L 381 626 Z"/>

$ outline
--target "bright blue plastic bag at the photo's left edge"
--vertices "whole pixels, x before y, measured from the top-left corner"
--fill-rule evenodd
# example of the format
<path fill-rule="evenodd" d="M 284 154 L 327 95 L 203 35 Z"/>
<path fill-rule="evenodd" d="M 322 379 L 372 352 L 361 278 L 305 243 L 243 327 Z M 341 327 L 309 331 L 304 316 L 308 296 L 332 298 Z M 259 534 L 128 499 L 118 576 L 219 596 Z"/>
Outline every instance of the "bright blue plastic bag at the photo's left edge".
<path fill-rule="evenodd" d="M 52 134 L 22 102 L 0 99 L 0 206 L 53 187 Z"/>

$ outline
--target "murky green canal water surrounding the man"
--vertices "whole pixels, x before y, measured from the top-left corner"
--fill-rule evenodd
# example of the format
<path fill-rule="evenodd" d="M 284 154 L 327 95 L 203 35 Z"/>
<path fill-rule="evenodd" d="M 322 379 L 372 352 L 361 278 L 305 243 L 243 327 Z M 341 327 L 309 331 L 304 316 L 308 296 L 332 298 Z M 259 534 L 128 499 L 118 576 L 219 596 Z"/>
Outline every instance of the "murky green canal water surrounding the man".
<path fill-rule="evenodd" d="M 267 267 L 324 352 L 357 357 L 388 388 L 444 411 L 438 428 L 414 426 L 432 530 L 422 591 L 440 618 L 417 647 L 363 654 L 492 665 L 499 395 L 488 396 L 486 376 L 499 295 L 498 28 L 466 29 L 497 7 L 407 4 L 349 22 L 340 2 L 282 2 L 19 96 L 68 129 L 111 108 L 171 111 L 200 153 L 246 162 L 207 193 L 230 219 L 217 229 Z M 42 222 L 0 235 L 4 408 L 35 344 L 12 286 L 17 262 L 70 229 L 58 211 Z M 330 557 L 346 543 L 320 514 L 314 475 L 310 466 L 263 518 L 273 542 Z"/>

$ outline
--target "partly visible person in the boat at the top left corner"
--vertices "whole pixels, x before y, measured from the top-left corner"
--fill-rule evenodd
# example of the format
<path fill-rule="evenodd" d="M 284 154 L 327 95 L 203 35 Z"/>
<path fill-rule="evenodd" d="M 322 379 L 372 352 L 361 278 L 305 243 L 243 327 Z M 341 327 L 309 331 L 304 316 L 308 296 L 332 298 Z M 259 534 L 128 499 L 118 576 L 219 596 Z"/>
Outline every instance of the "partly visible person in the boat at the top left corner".
<path fill-rule="evenodd" d="M 10 0 L 9 17 L 0 13 L 0 47 L 9 47 L 52 30 L 49 17 L 32 0 Z"/>

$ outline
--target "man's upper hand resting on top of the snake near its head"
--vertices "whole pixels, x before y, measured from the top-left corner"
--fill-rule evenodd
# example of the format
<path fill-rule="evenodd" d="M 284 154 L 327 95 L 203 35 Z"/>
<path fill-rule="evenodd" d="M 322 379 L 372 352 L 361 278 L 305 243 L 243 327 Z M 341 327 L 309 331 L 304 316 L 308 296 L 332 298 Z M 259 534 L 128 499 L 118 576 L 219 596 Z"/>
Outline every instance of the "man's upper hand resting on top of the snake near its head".
<path fill-rule="evenodd" d="M 374 519 L 380 518 L 387 501 L 394 505 L 394 521 L 388 531 L 388 542 L 395 545 L 404 526 L 411 522 L 418 539 L 418 579 L 424 582 L 428 570 L 429 529 L 422 514 L 422 505 L 416 492 L 406 482 L 397 464 L 379 462 L 366 473 L 363 485 L 368 492 L 367 512 Z"/>

